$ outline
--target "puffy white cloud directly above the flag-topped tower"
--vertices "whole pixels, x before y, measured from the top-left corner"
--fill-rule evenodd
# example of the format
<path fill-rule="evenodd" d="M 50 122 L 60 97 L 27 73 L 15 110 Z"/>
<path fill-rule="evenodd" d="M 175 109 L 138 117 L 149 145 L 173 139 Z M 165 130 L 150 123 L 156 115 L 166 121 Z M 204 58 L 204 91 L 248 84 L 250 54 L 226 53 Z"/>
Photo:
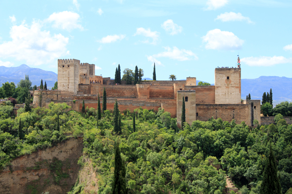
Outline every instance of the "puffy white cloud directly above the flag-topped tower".
<path fill-rule="evenodd" d="M 206 49 L 225 49 L 236 50 L 241 49 L 244 40 L 239 39 L 232 32 L 221 31 L 214 29 L 207 32 L 206 36 L 202 37 L 203 42 L 207 42 Z"/>

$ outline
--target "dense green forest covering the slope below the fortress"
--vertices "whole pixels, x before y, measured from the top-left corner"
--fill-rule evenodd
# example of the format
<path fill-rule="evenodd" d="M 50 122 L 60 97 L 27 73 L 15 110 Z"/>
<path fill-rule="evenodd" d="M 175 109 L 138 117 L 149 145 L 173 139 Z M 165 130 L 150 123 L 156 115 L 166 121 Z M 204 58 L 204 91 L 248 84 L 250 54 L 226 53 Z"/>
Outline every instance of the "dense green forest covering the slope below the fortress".
<path fill-rule="evenodd" d="M 12 104 L 1 105 L 0 168 L 19 155 L 83 136 L 84 156 L 94 164 L 100 194 L 112 191 L 115 142 L 126 166 L 129 194 L 222 194 L 226 174 L 242 194 L 259 194 L 271 142 L 282 193 L 292 186 L 292 125 L 282 115 L 275 117 L 276 125 L 255 121 L 252 128 L 210 118 L 186 123 L 181 130 L 170 113 L 140 108 L 120 112 L 115 131 L 116 115 L 109 110 L 98 116 L 93 108 L 84 113 L 69 109 L 65 103 L 50 103 L 49 109 L 20 108 L 15 117 Z M 79 164 L 84 165 L 82 158 Z M 77 183 L 69 194 L 80 194 L 83 187 Z"/>

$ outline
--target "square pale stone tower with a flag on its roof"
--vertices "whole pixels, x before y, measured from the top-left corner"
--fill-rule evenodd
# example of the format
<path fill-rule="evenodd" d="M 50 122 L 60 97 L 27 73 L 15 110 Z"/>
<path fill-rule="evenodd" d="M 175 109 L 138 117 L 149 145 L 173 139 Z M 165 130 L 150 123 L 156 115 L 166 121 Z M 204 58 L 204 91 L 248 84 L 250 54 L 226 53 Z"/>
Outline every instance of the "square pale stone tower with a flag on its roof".
<path fill-rule="evenodd" d="M 215 104 L 241 104 L 241 68 L 215 69 Z"/>

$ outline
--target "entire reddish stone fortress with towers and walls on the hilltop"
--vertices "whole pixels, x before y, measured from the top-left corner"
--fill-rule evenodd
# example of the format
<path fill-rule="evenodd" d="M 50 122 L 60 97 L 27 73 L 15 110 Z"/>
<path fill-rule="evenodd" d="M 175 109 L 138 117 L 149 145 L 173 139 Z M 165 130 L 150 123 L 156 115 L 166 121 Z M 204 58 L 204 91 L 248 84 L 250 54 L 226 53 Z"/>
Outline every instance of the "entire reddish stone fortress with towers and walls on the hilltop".
<path fill-rule="evenodd" d="M 95 65 L 80 63 L 76 59 L 58 60 L 58 90 L 35 90 L 34 107 L 48 107 L 50 102 L 67 103 L 73 110 L 85 107 L 97 109 L 97 97 L 102 105 L 103 88 L 106 90 L 107 109 L 113 110 L 117 100 L 119 110 L 142 107 L 162 108 L 177 117 L 181 127 L 183 98 L 186 105 L 186 121 L 207 121 L 212 116 L 237 123 L 244 121 L 252 126 L 253 120 L 260 124 L 260 100 L 241 100 L 241 68 L 216 68 L 215 85 L 196 85 L 196 78 L 175 81 L 142 81 L 115 85 L 114 80 L 95 75 Z"/>

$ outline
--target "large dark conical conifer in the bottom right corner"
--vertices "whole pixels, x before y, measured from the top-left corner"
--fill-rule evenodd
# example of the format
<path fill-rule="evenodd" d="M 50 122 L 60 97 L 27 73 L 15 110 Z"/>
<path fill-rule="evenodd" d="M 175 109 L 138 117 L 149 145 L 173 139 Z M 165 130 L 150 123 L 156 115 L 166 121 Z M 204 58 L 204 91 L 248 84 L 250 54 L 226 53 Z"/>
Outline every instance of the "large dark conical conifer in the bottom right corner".
<path fill-rule="evenodd" d="M 270 152 L 265 162 L 260 194 L 281 194 L 281 184 L 277 171 L 277 163 L 270 142 Z"/>

